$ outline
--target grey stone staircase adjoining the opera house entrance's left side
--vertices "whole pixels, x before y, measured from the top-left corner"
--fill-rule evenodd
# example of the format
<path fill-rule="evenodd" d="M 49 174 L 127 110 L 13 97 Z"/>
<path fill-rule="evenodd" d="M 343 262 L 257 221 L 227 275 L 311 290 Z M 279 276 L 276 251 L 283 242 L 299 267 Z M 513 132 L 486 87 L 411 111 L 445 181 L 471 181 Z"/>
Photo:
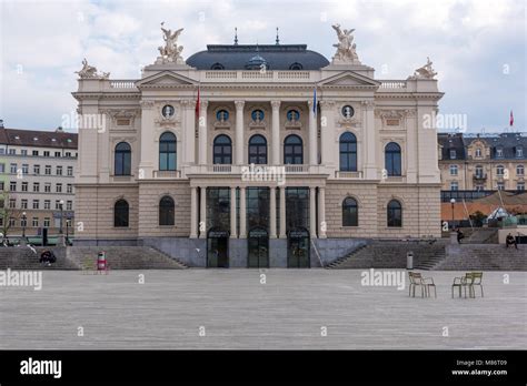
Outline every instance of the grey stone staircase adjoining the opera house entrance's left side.
<path fill-rule="evenodd" d="M 150 246 L 70 246 L 69 260 L 78 266 L 95 262 L 99 252 L 106 252 L 110 270 L 185 270 L 187 265 Z"/>

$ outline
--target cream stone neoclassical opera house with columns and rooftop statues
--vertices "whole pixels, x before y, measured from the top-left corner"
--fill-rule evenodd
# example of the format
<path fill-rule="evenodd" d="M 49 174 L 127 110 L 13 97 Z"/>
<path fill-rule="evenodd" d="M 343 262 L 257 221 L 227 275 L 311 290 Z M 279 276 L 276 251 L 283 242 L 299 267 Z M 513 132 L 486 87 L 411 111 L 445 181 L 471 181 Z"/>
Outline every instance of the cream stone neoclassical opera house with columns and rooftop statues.
<path fill-rule="evenodd" d="M 376 80 L 340 28 L 331 62 L 305 44 L 237 42 L 183 61 L 163 32 L 139 80 L 79 71 L 76 243 L 308 267 L 358 240 L 440 236 L 431 62 Z"/>

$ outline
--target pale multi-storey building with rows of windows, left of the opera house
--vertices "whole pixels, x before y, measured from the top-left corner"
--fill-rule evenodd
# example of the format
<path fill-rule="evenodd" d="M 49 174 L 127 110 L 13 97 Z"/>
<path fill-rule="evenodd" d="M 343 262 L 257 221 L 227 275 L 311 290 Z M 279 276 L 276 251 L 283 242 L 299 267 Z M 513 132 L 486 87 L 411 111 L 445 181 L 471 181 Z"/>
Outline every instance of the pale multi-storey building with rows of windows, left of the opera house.
<path fill-rule="evenodd" d="M 73 233 L 77 133 L 0 128 L 0 231 Z"/>

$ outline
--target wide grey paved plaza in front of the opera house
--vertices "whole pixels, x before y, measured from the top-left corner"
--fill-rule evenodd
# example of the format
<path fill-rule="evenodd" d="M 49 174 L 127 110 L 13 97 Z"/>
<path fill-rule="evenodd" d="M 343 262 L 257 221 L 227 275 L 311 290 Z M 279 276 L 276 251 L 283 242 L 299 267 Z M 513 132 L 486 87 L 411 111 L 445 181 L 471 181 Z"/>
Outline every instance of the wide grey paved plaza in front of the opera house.
<path fill-rule="evenodd" d="M 398 291 L 360 270 L 48 271 L 41 291 L 0 286 L 0 349 L 527 347 L 526 272 L 485 272 L 475 299 L 450 297 L 457 272 L 410 298 L 402 272 Z"/>

